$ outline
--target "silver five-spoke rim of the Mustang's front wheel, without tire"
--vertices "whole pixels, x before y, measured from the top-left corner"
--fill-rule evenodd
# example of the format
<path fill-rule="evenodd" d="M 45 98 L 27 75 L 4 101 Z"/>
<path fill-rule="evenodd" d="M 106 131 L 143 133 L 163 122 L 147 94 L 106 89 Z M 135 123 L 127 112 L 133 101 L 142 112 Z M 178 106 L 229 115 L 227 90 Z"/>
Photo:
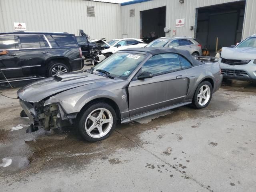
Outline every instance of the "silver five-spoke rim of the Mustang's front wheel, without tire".
<path fill-rule="evenodd" d="M 92 138 L 101 138 L 108 134 L 113 125 L 113 116 L 105 108 L 93 110 L 85 121 L 86 133 Z"/>

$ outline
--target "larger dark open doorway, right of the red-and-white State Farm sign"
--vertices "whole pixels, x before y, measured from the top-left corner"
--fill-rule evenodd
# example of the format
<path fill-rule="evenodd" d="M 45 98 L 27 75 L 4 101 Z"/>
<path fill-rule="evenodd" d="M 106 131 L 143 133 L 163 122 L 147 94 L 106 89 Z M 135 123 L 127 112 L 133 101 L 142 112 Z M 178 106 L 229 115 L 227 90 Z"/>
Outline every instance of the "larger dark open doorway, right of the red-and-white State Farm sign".
<path fill-rule="evenodd" d="M 229 47 L 242 39 L 245 0 L 198 8 L 196 38 L 210 52 Z"/>

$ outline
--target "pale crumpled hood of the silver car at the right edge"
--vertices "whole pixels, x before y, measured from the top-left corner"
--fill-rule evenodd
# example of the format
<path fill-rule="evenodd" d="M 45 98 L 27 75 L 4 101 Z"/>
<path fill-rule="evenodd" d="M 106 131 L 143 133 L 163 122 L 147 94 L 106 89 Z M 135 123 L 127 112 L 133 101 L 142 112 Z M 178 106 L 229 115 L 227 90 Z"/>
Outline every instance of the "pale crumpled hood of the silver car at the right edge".
<path fill-rule="evenodd" d="M 230 60 L 253 60 L 256 59 L 256 48 L 230 48 L 223 47 L 221 57 Z"/>

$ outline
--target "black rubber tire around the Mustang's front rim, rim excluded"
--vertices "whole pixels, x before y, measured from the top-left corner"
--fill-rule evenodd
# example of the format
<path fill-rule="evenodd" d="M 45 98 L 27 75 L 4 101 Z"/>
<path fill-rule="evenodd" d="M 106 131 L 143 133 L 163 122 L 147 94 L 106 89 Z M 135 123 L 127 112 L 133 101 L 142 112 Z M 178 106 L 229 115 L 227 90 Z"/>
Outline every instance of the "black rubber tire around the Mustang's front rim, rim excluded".
<path fill-rule="evenodd" d="M 91 136 L 89 136 L 85 130 L 85 121 L 88 117 L 88 115 L 95 109 L 97 108 L 106 108 L 107 110 L 109 110 L 113 116 L 113 124 L 111 129 L 109 130 L 109 132 L 104 135 L 101 138 L 92 138 Z M 104 140 L 105 138 L 107 138 L 115 129 L 116 127 L 116 112 L 115 110 L 112 108 L 112 106 L 110 106 L 109 104 L 106 104 L 104 102 L 95 102 L 90 104 L 88 107 L 84 108 L 84 110 L 82 110 L 82 112 L 80 113 L 79 117 L 78 117 L 78 121 L 77 121 L 77 128 L 80 132 L 80 134 L 82 135 L 82 137 L 89 141 L 89 142 L 97 142 L 100 140 Z"/>

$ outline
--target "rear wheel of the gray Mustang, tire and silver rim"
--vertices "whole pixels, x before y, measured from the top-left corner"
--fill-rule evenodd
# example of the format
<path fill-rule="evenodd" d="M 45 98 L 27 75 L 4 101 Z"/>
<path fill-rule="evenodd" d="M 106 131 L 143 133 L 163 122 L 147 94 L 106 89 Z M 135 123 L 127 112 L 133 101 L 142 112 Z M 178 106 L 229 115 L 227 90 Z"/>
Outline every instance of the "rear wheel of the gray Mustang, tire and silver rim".
<path fill-rule="evenodd" d="M 197 109 L 202 109 L 208 106 L 212 99 L 212 84 L 208 81 L 201 82 L 194 93 L 192 106 Z"/>

